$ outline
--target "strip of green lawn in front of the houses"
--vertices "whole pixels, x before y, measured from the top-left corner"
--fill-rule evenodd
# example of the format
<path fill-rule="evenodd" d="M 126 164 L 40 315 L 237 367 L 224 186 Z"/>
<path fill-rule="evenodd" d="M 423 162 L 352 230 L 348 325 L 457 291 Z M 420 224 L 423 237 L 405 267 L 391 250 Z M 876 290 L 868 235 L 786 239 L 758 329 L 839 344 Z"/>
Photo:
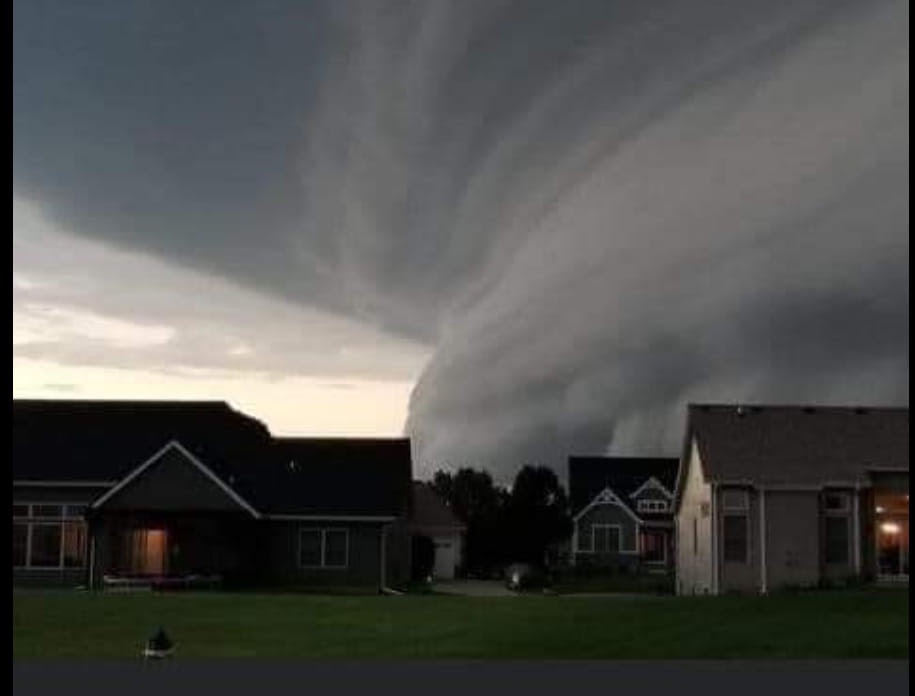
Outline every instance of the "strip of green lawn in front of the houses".
<path fill-rule="evenodd" d="M 14 658 L 907 658 L 908 590 L 499 598 L 13 593 Z"/>

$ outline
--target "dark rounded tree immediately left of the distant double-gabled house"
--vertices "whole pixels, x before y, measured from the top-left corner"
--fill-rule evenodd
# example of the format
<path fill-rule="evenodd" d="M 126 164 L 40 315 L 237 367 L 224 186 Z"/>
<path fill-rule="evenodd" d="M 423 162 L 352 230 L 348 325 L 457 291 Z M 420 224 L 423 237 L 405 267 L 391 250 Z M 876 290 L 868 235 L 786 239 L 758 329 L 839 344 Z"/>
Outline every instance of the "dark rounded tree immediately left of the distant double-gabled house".
<path fill-rule="evenodd" d="M 525 466 L 518 472 L 506 522 L 515 560 L 546 564 L 548 551 L 572 533 L 568 497 L 552 469 Z"/>

